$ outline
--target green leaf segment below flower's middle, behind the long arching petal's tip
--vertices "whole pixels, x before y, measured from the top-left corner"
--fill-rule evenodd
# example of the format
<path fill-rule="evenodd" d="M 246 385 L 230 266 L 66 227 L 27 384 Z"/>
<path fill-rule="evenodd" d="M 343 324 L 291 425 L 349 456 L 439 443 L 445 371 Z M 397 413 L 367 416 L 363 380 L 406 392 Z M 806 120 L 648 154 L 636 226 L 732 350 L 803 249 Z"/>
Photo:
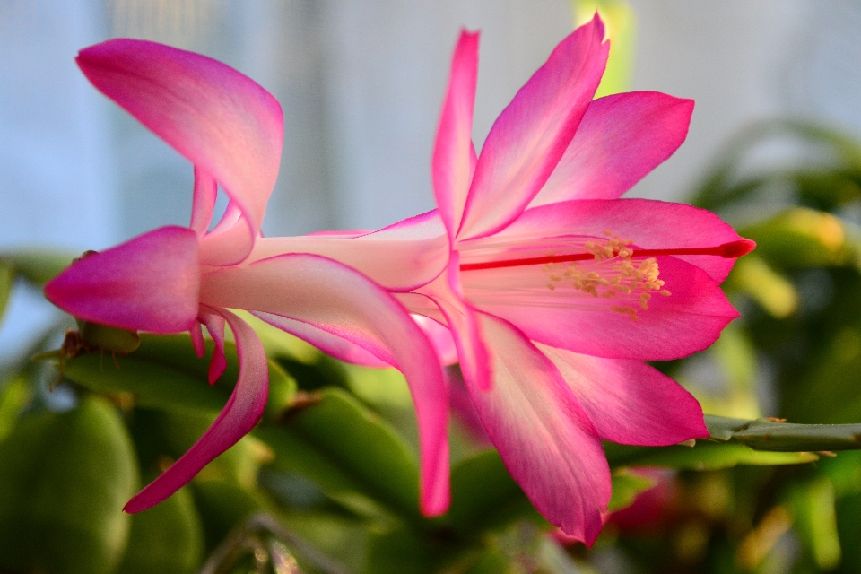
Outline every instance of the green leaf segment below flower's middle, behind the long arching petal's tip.
<path fill-rule="evenodd" d="M 387 422 L 340 389 L 323 390 L 255 434 L 273 448 L 274 469 L 300 474 L 352 509 L 372 511 L 372 500 L 401 517 L 420 516 L 415 455 Z"/>

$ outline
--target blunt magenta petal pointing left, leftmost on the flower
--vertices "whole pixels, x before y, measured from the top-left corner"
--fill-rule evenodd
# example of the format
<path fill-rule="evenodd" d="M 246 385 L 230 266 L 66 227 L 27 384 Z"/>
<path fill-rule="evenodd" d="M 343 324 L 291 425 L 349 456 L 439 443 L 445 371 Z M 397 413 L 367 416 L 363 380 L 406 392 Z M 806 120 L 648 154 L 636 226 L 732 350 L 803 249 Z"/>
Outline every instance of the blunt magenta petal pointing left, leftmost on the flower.
<path fill-rule="evenodd" d="M 48 300 L 74 317 L 160 334 L 195 325 L 199 291 L 195 232 L 175 226 L 83 257 L 45 286 Z"/>

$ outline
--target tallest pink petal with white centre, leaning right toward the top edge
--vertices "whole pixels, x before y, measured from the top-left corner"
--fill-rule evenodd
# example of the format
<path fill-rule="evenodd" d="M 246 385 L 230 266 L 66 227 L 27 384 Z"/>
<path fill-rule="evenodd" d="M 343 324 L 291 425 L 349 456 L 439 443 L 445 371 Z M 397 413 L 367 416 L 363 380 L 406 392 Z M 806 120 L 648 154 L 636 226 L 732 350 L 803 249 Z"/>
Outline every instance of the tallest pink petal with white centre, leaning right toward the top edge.
<path fill-rule="evenodd" d="M 484 142 L 458 239 L 502 229 L 544 187 L 595 94 L 609 49 L 596 14 L 517 92 Z"/>

